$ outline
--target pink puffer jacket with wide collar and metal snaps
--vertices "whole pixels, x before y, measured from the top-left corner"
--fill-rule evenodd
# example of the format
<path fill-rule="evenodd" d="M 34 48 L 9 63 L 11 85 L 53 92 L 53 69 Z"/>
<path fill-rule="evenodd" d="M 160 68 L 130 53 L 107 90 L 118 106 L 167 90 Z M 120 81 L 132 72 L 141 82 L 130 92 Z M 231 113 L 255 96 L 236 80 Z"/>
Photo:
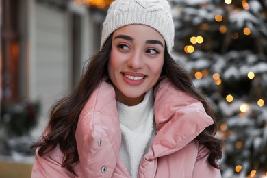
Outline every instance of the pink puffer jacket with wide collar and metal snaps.
<path fill-rule="evenodd" d="M 221 177 L 207 162 L 209 151 L 196 136 L 212 125 L 203 105 L 164 79 L 154 90 L 157 134 L 142 157 L 140 178 Z M 79 162 L 77 177 L 130 177 L 120 157 L 121 133 L 114 88 L 105 81 L 94 90 L 84 106 L 76 131 Z M 31 177 L 75 177 L 61 167 L 59 147 L 43 157 L 36 154 Z"/>

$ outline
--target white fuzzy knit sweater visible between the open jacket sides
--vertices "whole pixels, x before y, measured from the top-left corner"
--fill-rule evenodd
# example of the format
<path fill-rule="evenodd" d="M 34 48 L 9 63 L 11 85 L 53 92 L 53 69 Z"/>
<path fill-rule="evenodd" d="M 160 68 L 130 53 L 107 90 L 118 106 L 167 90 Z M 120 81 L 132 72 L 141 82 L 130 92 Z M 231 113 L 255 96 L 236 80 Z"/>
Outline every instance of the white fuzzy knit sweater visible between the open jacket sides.
<path fill-rule="evenodd" d="M 132 178 L 138 177 L 140 160 L 155 137 L 153 89 L 138 105 L 127 106 L 117 102 L 122 133 L 119 156 Z"/>

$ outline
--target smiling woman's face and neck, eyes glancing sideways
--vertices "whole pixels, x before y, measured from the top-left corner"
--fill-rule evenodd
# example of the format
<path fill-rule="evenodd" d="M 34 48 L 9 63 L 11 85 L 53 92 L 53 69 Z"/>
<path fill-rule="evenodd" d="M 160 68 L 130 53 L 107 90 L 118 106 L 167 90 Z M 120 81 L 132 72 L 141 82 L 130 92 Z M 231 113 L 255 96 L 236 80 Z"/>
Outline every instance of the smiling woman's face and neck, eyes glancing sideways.
<path fill-rule="evenodd" d="M 127 25 L 114 31 L 108 74 L 116 100 L 136 105 L 156 84 L 164 64 L 165 41 L 146 25 Z"/>

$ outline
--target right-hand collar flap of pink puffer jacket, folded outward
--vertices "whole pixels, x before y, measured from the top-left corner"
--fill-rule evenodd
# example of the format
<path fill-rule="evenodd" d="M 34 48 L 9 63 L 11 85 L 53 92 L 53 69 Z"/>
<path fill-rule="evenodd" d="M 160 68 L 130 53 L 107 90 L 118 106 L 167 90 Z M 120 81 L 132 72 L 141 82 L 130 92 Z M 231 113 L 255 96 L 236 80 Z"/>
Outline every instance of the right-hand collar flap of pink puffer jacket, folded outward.
<path fill-rule="evenodd" d="M 138 177 L 154 177 L 155 158 L 179 151 L 214 123 L 200 101 L 178 90 L 167 78 L 155 88 L 154 97 L 157 134 L 142 158 Z"/>

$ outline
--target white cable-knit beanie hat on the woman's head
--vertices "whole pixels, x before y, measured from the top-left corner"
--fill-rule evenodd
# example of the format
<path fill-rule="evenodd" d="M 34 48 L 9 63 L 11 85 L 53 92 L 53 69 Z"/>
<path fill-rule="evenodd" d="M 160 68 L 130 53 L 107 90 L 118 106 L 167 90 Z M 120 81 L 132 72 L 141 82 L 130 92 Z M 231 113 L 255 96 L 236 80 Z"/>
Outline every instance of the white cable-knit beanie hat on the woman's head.
<path fill-rule="evenodd" d="M 153 27 L 163 36 L 168 51 L 173 48 L 175 29 L 167 0 L 115 0 L 103 23 L 101 48 L 113 31 L 130 24 Z"/>

